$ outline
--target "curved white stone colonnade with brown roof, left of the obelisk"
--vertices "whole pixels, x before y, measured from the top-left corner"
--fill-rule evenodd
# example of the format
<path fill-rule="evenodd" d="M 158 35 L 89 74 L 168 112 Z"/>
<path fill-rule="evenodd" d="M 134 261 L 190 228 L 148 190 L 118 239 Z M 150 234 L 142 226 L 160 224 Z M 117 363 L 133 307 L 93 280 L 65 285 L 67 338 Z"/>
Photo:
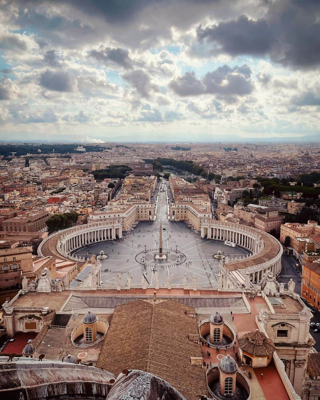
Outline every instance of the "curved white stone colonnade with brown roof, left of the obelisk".
<path fill-rule="evenodd" d="M 60 230 L 48 236 L 38 247 L 39 256 L 62 256 L 68 260 L 84 262 L 84 257 L 73 257 L 70 252 L 88 244 L 122 238 L 122 225 L 112 222 L 97 222 Z"/>

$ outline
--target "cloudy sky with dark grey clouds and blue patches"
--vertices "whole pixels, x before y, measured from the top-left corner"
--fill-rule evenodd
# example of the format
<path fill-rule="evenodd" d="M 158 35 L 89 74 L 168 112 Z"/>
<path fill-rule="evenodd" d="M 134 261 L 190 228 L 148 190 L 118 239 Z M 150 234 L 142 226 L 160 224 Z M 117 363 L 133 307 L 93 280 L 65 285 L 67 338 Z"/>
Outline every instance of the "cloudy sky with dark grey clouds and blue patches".
<path fill-rule="evenodd" d="M 0 140 L 319 137 L 319 0 L 0 0 Z"/>

